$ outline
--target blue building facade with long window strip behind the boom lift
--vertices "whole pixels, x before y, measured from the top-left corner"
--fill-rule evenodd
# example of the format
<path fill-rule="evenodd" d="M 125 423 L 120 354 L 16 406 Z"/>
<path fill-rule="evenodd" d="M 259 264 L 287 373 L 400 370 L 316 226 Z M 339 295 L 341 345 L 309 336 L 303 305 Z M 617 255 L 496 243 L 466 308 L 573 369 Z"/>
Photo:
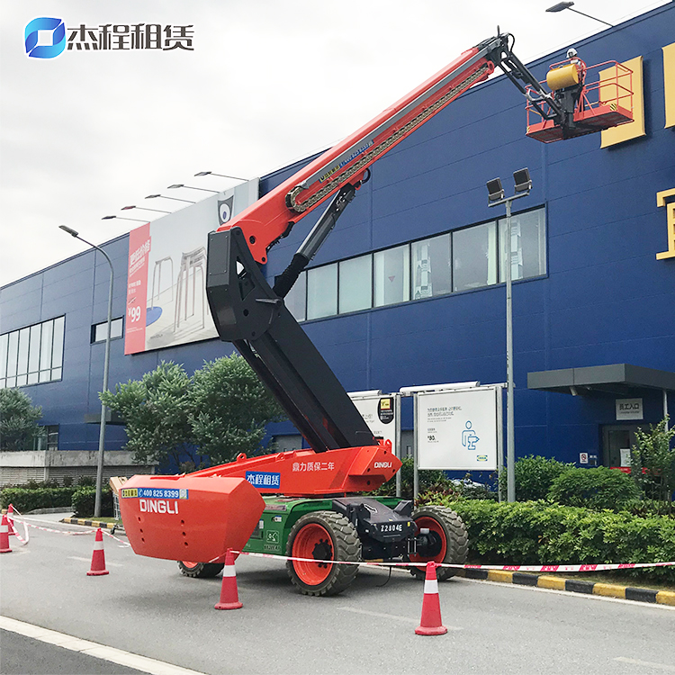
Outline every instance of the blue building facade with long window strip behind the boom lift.
<path fill-rule="evenodd" d="M 501 176 L 509 193 L 506 177 L 527 166 L 533 188 L 514 202 L 511 240 L 517 456 L 619 465 L 617 450 L 635 427 L 675 409 L 673 36 L 669 4 L 573 45 L 587 64 L 640 64 L 634 103 L 644 104 L 644 132 L 529 139 L 523 97 L 499 76 L 374 165 L 287 299 L 347 391 L 505 382 L 507 243 L 503 212 L 488 207 L 485 184 Z M 529 67 L 544 79 L 563 58 L 556 52 Z M 261 194 L 299 166 L 263 176 Z M 270 251 L 270 280 L 293 257 L 309 220 Z M 115 266 L 113 316 L 122 319 L 128 236 L 103 247 Z M 42 406 L 42 422 L 58 427 L 59 450 L 97 446 L 98 427 L 84 418 L 100 410 L 104 345 L 94 327 L 106 318 L 108 275 L 103 257 L 89 250 L 0 292 L 8 359 L 0 384 L 23 386 Z M 60 365 L 57 355 L 41 382 L 39 373 L 31 384 L 29 374 L 11 380 L 12 334 L 59 317 Z M 123 320 L 119 326 L 123 332 Z M 231 351 L 212 339 L 124 356 L 123 339 L 114 339 L 111 383 L 139 378 L 161 361 L 192 372 Z M 617 401 L 635 400 L 640 419 L 619 413 Z M 402 426 L 412 428 L 410 406 Z M 284 424 L 270 432 L 295 433 Z M 110 428 L 108 440 L 111 449 L 123 446 L 123 428 Z"/>

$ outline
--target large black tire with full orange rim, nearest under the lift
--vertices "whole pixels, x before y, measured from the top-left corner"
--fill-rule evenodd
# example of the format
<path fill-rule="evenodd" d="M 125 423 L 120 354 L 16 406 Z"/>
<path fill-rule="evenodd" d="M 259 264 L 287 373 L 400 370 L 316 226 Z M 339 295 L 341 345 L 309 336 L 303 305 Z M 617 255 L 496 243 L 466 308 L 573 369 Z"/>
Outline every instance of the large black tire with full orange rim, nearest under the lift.
<path fill-rule="evenodd" d="M 361 560 L 361 541 L 344 516 L 315 511 L 298 519 L 286 544 L 286 555 L 316 560 Z M 286 570 L 293 585 L 304 595 L 337 595 L 354 581 L 358 565 L 303 563 L 289 560 Z"/>

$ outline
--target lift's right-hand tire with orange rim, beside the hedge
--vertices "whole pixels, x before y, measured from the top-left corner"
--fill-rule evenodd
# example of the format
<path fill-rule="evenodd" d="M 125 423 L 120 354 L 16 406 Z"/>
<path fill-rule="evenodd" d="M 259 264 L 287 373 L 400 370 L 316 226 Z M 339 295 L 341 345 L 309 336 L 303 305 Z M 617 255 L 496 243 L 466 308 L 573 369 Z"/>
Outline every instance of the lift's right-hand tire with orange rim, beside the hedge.
<path fill-rule="evenodd" d="M 469 550 L 469 537 L 466 527 L 455 511 L 440 506 L 428 506 L 417 509 L 412 514 L 412 519 L 418 528 L 428 527 L 430 533 L 436 539 L 438 552 L 430 557 L 410 555 L 411 563 L 420 563 L 419 567 L 411 567 L 410 574 L 418 579 L 424 579 L 426 575 L 426 563 L 433 560 L 435 563 L 448 563 L 461 565 L 466 562 L 466 554 Z M 438 567 L 436 576 L 438 581 L 445 581 L 454 577 L 457 573 L 451 567 Z"/>

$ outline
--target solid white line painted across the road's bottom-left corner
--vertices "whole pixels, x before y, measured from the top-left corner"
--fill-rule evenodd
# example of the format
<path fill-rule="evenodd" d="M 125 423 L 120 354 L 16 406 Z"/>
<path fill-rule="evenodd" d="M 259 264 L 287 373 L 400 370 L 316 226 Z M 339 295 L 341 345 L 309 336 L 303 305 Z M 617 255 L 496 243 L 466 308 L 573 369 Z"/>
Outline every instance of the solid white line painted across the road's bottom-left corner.
<path fill-rule="evenodd" d="M 0 628 L 18 633 L 19 635 L 32 637 L 43 643 L 57 644 L 59 647 L 65 647 L 72 652 L 89 654 L 89 656 L 94 656 L 96 659 L 103 659 L 103 661 L 135 668 L 137 671 L 148 672 L 151 675 L 204 675 L 198 671 L 191 671 L 187 668 L 175 666 L 173 663 L 157 661 L 148 658 L 148 656 L 124 652 L 121 649 L 107 647 L 104 644 L 93 643 L 88 640 L 80 640 L 73 635 L 58 633 L 58 631 L 27 624 L 24 621 L 17 621 L 10 617 L 0 616 Z"/>

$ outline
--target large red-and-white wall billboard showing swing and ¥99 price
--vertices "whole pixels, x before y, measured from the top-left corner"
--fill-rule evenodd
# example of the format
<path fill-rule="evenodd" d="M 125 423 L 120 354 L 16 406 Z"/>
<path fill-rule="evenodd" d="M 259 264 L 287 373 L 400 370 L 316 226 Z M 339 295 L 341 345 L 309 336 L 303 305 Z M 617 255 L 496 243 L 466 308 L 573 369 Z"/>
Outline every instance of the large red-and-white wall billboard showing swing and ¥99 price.
<path fill-rule="evenodd" d="M 218 337 L 206 300 L 208 235 L 257 198 L 255 178 L 130 231 L 124 354 Z"/>

